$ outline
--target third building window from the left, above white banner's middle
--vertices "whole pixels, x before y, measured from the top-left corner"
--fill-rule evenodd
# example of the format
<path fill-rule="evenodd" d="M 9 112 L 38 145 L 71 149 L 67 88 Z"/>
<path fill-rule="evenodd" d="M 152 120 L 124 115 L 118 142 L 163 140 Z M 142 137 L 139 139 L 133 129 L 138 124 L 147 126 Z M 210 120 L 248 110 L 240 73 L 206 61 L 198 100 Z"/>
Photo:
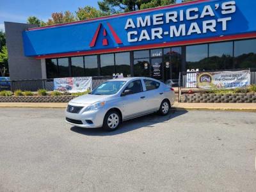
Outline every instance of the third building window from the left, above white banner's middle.
<path fill-rule="evenodd" d="M 72 77 L 84 77 L 84 58 L 71 58 Z"/>

